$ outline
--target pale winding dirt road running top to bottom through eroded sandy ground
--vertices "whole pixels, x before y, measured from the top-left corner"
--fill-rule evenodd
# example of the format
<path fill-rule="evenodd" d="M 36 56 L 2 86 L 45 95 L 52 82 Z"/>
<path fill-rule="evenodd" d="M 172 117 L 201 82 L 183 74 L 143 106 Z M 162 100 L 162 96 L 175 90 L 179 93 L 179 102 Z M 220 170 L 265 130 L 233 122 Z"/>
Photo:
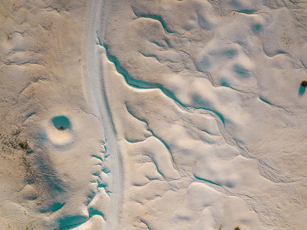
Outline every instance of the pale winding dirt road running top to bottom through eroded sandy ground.
<path fill-rule="evenodd" d="M 118 214 L 120 210 L 120 200 L 123 191 L 123 170 L 121 167 L 121 153 L 118 148 L 114 125 L 111 114 L 108 109 L 108 101 L 104 89 L 104 60 L 101 59 L 103 48 L 100 46 L 103 40 L 104 25 L 107 17 L 107 1 L 90 1 L 87 14 L 87 72 L 85 80 L 92 97 L 93 106 L 101 121 L 102 129 L 105 135 L 106 153 L 111 157 L 110 165 L 110 191 L 111 203 L 106 213 L 106 230 L 116 229 L 118 223 Z M 98 33 L 100 31 L 100 33 Z M 96 43 L 97 39 L 99 44 Z"/>

